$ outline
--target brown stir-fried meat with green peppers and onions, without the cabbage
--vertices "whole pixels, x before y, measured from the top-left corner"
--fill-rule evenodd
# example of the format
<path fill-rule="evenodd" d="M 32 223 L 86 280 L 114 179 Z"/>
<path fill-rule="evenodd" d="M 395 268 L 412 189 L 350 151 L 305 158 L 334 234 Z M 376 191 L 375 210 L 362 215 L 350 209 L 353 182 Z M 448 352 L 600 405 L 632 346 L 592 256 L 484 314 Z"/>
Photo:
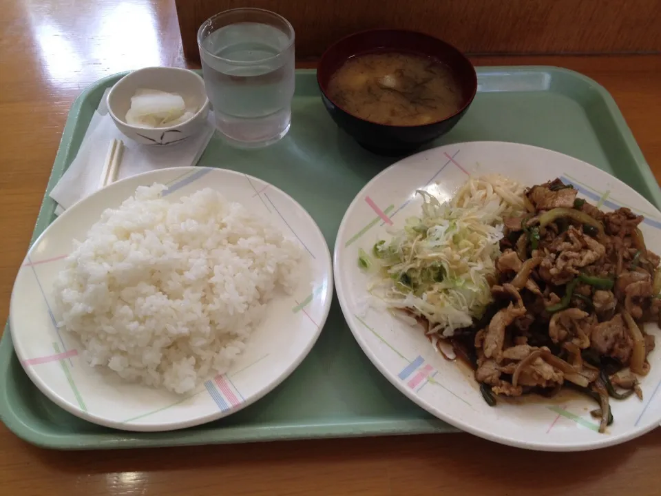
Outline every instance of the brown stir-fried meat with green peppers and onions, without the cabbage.
<path fill-rule="evenodd" d="M 645 246 L 642 216 L 605 213 L 556 179 L 525 192 L 529 214 L 505 219 L 494 303 L 452 342 L 475 369 L 485 400 L 554 395 L 570 386 L 598 402 L 603 432 L 609 397 L 642 396 L 658 322 L 660 258 Z"/>

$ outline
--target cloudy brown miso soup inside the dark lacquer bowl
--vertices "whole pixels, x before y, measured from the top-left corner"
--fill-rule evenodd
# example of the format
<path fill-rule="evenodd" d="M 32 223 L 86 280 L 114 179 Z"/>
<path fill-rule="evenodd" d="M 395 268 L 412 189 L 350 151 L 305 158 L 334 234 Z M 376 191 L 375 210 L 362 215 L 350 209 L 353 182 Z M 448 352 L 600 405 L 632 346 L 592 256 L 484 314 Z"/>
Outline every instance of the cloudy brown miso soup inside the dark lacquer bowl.
<path fill-rule="evenodd" d="M 327 94 L 344 110 L 379 124 L 421 125 L 461 109 L 461 87 L 447 65 L 399 52 L 354 56 L 328 81 Z"/>

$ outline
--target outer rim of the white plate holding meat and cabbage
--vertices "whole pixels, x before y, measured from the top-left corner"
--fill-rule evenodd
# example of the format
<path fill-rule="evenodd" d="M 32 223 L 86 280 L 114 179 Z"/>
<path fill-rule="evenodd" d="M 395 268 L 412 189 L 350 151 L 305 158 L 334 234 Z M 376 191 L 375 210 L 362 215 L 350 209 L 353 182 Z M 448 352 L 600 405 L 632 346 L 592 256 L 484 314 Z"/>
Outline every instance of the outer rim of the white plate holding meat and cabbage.
<path fill-rule="evenodd" d="M 573 157 L 571 155 L 563 154 L 562 152 L 557 152 L 556 150 L 553 149 L 548 149 L 548 148 L 543 148 L 543 147 L 538 147 L 535 145 L 527 145 L 525 143 L 515 143 L 513 141 L 466 141 L 466 142 L 459 142 L 459 143 L 448 143 L 445 145 L 440 145 L 438 147 L 433 147 L 429 148 L 426 150 L 423 150 L 421 152 L 418 152 L 417 154 L 412 154 L 410 156 L 406 156 L 404 158 L 401 158 L 399 161 L 392 163 L 386 169 L 382 170 L 371 178 L 364 187 L 360 189 L 360 191 L 356 194 L 355 198 L 351 201 L 349 206 L 347 207 L 346 211 L 344 212 L 344 216 L 342 217 L 342 222 L 339 224 L 339 227 L 337 229 L 337 236 L 335 238 L 335 248 L 333 249 L 333 278 L 335 278 L 335 291 L 337 293 L 337 300 L 339 301 L 340 308 L 342 309 L 342 313 L 344 315 L 344 319 L 346 320 L 346 324 L 348 325 L 351 333 L 353 334 L 353 337 L 357 341 L 359 347 L 361 350 L 366 354 L 367 358 L 372 362 L 372 364 L 377 368 L 377 370 L 381 373 L 381 375 L 392 384 L 392 386 L 395 386 L 403 395 L 408 397 L 409 400 L 417 404 L 421 409 L 427 411 L 431 415 L 434 415 L 434 417 L 439 418 L 440 420 L 443 420 L 443 422 L 447 422 L 448 424 L 461 429 L 461 431 L 470 433 L 472 435 L 476 435 L 478 437 L 482 437 L 483 439 L 490 440 L 492 442 L 496 442 L 499 444 L 505 444 L 506 446 L 514 446 L 516 448 L 525 448 L 529 449 L 532 451 L 549 451 L 549 452 L 571 452 L 571 451 L 592 451 L 595 449 L 599 448 L 606 448 L 608 446 L 615 446 L 616 444 L 622 444 L 624 442 L 630 441 L 632 439 L 635 439 L 636 437 L 640 437 L 644 434 L 649 433 L 650 431 L 653 431 L 654 428 L 658 427 L 659 422 L 651 422 L 649 426 L 645 426 L 643 428 L 634 428 L 631 431 L 627 433 L 623 433 L 622 435 L 618 435 L 616 437 L 611 437 L 611 436 L 604 436 L 605 439 L 603 440 L 596 440 L 596 442 L 590 442 L 590 443 L 575 443 L 575 444 L 567 444 L 567 443 L 554 443 L 554 442 L 548 442 L 548 443 L 541 443 L 541 442 L 527 442 L 525 440 L 516 440 L 512 439 L 509 437 L 501 437 L 500 435 L 494 435 L 490 433 L 489 431 L 480 428 L 479 426 L 474 426 L 473 424 L 468 424 L 466 422 L 463 422 L 459 418 L 451 417 L 447 413 L 441 411 L 440 409 L 437 409 L 433 407 L 429 402 L 426 402 L 423 400 L 423 398 L 415 393 L 415 391 L 412 391 L 411 389 L 408 389 L 404 386 L 403 382 L 397 380 L 397 376 L 390 372 L 386 364 L 381 362 L 381 360 L 377 357 L 376 353 L 373 353 L 371 350 L 370 346 L 366 342 L 366 340 L 363 338 L 363 331 L 362 329 L 356 324 L 355 319 L 353 318 L 352 312 L 350 311 L 349 303 L 346 299 L 346 295 L 344 294 L 344 287 L 343 287 L 343 282 L 342 278 L 342 270 L 339 267 L 339 258 L 341 258 L 340 251 L 343 249 L 344 245 L 342 241 L 344 240 L 345 236 L 345 230 L 346 230 L 346 225 L 348 223 L 348 218 L 349 214 L 357 204 L 359 204 L 360 199 L 365 196 L 366 192 L 369 191 L 370 187 L 377 182 L 377 180 L 381 179 L 381 176 L 385 176 L 386 174 L 389 174 L 392 169 L 398 168 L 398 167 L 406 167 L 407 161 L 410 161 L 412 158 L 419 157 L 419 156 L 425 156 L 425 155 L 433 155 L 437 153 L 437 150 L 447 148 L 447 147 L 461 147 L 462 145 L 466 146 L 474 146 L 474 145 L 507 145 L 507 146 L 512 146 L 512 147 L 523 147 L 523 148 L 528 148 L 528 149 L 533 149 L 533 150 L 543 150 L 543 152 L 551 153 L 551 154 L 556 154 L 559 156 L 563 156 L 565 158 L 569 158 L 572 161 L 578 161 L 582 163 L 583 165 L 586 165 L 587 167 L 594 169 L 598 174 L 605 174 L 610 178 L 611 180 L 615 180 L 621 187 L 625 187 L 628 189 L 630 192 L 633 192 L 638 196 L 638 198 L 642 198 L 644 203 L 647 204 L 648 207 L 651 207 L 653 211 L 659 211 L 661 214 L 661 211 L 655 207 L 647 198 L 642 196 L 642 194 L 636 192 L 635 189 L 633 189 L 631 186 L 627 185 L 624 181 L 622 181 L 620 178 L 613 176 L 609 174 L 608 172 L 605 172 L 602 169 L 599 169 L 596 167 L 596 165 L 592 165 L 591 163 L 587 163 L 580 158 Z M 659 326 L 661 329 L 661 326 Z M 360 329 L 360 330 L 359 330 Z M 659 419 L 661 420 L 661 418 Z"/>

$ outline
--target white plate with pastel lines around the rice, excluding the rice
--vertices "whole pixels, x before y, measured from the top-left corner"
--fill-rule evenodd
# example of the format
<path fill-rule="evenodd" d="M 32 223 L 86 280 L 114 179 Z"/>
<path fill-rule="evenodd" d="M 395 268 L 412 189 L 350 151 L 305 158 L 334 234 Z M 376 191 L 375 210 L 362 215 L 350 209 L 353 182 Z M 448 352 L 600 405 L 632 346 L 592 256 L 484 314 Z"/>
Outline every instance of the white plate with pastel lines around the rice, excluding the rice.
<path fill-rule="evenodd" d="M 80 342 L 57 332 L 51 313 L 52 285 L 72 250 L 101 212 L 135 193 L 140 185 L 162 183 L 176 200 L 204 187 L 269 220 L 298 240 L 310 270 L 293 296 L 269 303 L 262 324 L 231 370 L 185 397 L 136 384 L 92 368 L 78 356 Z M 165 431 L 224 417 L 255 402 L 280 384 L 319 337 L 333 295 L 328 245 L 298 203 L 264 181 L 224 169 L 177 167 L 127 178 L 77 203 L 39 237 L 19 270 L 10 307 L 12 340 L 23 368 L 37 387 L 63 409 L 97 424 L 131 431 Z"/>

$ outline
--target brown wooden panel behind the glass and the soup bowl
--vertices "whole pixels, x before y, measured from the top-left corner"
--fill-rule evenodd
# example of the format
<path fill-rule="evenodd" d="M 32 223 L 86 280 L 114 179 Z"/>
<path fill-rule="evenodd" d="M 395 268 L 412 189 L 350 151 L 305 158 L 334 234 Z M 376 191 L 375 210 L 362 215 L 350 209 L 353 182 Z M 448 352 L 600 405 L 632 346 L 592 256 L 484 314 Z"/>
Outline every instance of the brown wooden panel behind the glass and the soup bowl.
<path fill-rule="evenodd" d="M 238 7 L 286 17 L 303 57 L 371 28 L 428 32 L 472 54 L 661 52 L 659 0 L 176 0 L 176 6 L 184 54 L 193 61 L 200 24 Z"/>

